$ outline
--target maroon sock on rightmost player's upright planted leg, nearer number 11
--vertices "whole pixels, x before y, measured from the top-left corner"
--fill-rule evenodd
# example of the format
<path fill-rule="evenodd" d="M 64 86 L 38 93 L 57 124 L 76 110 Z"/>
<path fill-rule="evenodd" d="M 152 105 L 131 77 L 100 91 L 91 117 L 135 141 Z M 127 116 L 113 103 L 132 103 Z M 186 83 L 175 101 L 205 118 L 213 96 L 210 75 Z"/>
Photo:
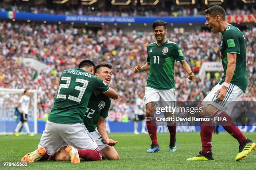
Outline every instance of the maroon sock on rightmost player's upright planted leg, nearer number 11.
<path fill-rule="evenodd" d="M 207 116 L 205 116 L 207 117 Z M 212 152 L 212 133 L 213 125 L 212 121 L 200 121 L 200 136 L 202 143 L 202 153 Z"/>

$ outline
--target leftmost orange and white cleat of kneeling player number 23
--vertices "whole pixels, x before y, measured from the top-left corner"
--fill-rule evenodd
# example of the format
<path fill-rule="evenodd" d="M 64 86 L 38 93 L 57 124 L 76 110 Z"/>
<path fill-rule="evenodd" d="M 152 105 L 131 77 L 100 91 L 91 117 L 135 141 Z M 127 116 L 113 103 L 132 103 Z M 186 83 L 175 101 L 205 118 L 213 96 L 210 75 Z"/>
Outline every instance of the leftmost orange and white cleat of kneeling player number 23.
<path fill-rule="evenodd" d="M 44 147 L 38 148 L 37 150 L 25 155 L 20 160 L 20 162 L 33 163 L 37 160 L 40 160 L 44 156 L 45 153 L 46 153 L 46 149 Z"/>

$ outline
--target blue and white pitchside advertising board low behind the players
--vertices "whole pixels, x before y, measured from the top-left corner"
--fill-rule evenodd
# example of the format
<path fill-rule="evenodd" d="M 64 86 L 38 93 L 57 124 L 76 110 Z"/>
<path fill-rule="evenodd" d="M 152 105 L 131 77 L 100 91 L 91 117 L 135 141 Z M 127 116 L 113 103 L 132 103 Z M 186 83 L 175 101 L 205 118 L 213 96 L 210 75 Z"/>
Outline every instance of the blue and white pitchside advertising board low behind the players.
<path fill-rule="evenodd" d="M 43 120 L 37 121 L 38 133 L 43 133 L 46 122 Z M 18 122 L 15 120 L 0 120 L 0 134 L 1 132 L 13 133 Z M 33 120 L 28 121 L 29 128 L 33 128 Z M 106 121 L 106 128 L 108 133 L 115 132 L 130 132 L 134 131 L 134 122 L 114 122 Z M 238 126 L 242 132 L 256 132 L 256 125 Z M 141 131 L 141 122 L 138 124 L 138 132 Z M 22 130 L 26 134 L 24 128 Z M 157 126 L 157 132 L 169 133 L 167 126 Z M 186 123 L 179 122 L 177 125 L 177 132 L 189 133 L 189 132 L 200 132 L 199 125 L 187 125 Z M 219 128 L 219 132 L 225 132 L 222 126 Z"/>

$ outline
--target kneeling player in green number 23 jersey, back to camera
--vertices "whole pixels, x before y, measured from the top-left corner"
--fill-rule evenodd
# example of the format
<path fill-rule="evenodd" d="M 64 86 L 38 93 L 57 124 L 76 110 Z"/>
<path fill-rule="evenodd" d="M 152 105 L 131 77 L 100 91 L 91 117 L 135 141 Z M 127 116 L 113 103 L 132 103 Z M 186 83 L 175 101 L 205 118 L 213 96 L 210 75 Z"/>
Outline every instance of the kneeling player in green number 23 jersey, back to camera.
<path fill-rule="evenodd" d="M 59 90 L 46 122 L 46 128 L 41 136 L 38 149 L 25 155 L 21 162 L 32 163 L 43 156 L 54 155 L 63 143 L 69 146 L 65 149 L 72 163 L 80 163 L 77 149 L 83 149 L 82 154 L 90 160 L 101 160 L 100 150 L 88 130 L 83 119 L 87 105 L 94 90 L 117 99 L 115 90 L 108 87 L 101 79 L 91 75 L 95 64 L 83 60 L 79 68 L 67 69 L 61 73 Z M 45 159 L 45 158 L 44 158 Z"/>

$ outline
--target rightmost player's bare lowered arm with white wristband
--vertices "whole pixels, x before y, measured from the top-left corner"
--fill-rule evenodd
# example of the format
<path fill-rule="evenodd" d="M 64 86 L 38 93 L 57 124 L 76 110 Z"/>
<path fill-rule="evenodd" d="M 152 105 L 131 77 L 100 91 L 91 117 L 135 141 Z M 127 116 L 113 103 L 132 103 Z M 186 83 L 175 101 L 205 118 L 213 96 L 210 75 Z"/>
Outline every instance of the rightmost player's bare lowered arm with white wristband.
<path fill-rule="evenodd" d="M 227 60 L 228 60 L 228 65 L 227 65 L 227 70 L 226 70 L 226 78 L 225 78 L 225 82 L 224 82 L 227 85 L 225 86 L 225 84 L 223 84 L 223 86 L 215 92 L 216 95 L 218 93 L 220 93 L 220 95 L 215 99 L 216 101 L 224 100 L 224 98 L 227 95 L 228 85 L 229 85 L 230 81 L 232 80 L 232 77 L 236 70 L 236 53 L 227 54 Z"/>

